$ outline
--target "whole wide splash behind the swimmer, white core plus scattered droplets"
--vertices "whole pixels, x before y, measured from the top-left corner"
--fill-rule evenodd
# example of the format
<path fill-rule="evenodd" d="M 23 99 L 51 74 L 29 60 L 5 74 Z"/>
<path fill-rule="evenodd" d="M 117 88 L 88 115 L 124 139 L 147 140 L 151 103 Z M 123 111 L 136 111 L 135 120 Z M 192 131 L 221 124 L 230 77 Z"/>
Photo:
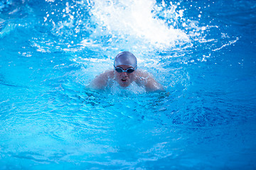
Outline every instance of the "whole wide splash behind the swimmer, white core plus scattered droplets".
<path fill-rule="evenodd" d="M 183 9 L 177 9 L 178 3 L 155 0 L 47 2 L 54 8 L 43 17 L 45 26 L 52 26 L 52 34 L 67 45 L 65 50 L 75 45 L 107 47 L 107 50 L 170 49 L 191 42 L 192 33 L 188 34 L 183 27 L 193 25 L 195 30 L 200 30 L 183 18 Z"/>

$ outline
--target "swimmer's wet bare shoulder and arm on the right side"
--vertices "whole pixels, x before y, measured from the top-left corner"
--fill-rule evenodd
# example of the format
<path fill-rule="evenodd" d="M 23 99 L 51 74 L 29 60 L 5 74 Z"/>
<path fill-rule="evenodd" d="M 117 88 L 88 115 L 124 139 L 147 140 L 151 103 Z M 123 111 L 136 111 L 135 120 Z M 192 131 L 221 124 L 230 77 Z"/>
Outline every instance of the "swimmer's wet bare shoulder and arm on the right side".
<path fill-rule="evenodd" d="M 146 91 L 164 91 L 164 86 L 159 84 L 154 77 L 147 72 L 138 72 L 137 79 L 135 81 L 139 86 L 144 86 Z"/>

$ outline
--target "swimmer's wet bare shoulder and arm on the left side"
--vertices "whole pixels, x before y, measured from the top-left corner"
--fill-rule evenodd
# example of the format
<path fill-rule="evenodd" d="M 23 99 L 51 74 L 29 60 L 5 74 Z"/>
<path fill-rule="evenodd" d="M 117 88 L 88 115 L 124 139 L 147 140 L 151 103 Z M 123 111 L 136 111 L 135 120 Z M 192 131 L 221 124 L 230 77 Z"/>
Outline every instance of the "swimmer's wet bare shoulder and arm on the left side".
<path fill-rule="evenodd" d="M 90 82 L 89 88 L 94 90 L 103 90 L 107 86 L 107 81 L 112 78 L 113 71 L 109 70 L 95 77 Z"/>

